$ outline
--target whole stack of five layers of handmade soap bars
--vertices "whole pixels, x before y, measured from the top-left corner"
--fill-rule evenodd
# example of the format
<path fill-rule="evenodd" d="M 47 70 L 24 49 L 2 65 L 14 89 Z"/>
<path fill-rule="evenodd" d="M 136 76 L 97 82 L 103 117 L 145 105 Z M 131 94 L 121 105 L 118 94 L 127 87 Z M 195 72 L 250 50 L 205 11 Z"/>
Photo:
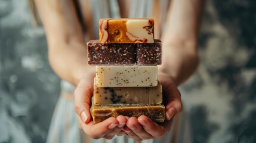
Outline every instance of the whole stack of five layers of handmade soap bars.
<path fill-rule="evenodd" d="M 119 115 L 145 115 L 164 122 L 158 67 L 162 42 L 152 18 L 100 20 L 100 39 L 87 43 L 88 64 L 96 66 L 91 115 L 94 123 Z"/>

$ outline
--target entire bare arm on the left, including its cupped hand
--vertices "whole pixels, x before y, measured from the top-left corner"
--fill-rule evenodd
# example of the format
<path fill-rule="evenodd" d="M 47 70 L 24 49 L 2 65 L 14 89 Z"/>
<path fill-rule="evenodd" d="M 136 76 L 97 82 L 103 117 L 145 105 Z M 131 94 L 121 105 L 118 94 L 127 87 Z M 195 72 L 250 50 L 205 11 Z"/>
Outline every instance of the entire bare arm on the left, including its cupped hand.
<path fill-rule="evenodd" d="M 91 120 L 95 68 L 87 64 L 87 48 L 72 1 L 35 0 L 45 27 L 50 64 L 61 79 L 77 85 L 75 111 L 84 132 L 91 138 L 110 139 L 122 130 L 127 119 L 124 116 L 111 117 L 98 124 Z"/>

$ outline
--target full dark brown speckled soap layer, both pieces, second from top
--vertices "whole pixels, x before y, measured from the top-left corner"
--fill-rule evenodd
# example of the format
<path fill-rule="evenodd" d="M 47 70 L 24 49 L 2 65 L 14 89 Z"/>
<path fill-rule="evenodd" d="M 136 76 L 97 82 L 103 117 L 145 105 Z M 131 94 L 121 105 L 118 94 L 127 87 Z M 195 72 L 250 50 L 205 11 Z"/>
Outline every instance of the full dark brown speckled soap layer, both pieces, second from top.
<path fill-rule="evenodd" d="M 162 42 L 153 43 L 87 43 L 90 65 L 160 65 L 162 64 Z"/>

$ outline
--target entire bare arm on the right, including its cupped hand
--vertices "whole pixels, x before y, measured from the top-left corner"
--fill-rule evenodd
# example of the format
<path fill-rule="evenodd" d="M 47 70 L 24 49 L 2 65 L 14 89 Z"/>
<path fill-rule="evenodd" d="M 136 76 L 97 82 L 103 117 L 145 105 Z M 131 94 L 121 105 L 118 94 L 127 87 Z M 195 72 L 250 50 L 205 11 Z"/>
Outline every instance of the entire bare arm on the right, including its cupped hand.
<path fill-rule="evenodd" d="M 181 112 L 183 105 L 177 86 L 188 79 L 198 65 L 197 36 L 202 10 L 203 0 L 172 1 L 168 26 L 162 36 L 163 60 L 158 74 L 166 101 L 166 120 L 159 125 L 146 116 L 131 117 L 124 128 L 130 138 L 141 141 L 163 136 L 171 129 L 171 119 Z"/>

